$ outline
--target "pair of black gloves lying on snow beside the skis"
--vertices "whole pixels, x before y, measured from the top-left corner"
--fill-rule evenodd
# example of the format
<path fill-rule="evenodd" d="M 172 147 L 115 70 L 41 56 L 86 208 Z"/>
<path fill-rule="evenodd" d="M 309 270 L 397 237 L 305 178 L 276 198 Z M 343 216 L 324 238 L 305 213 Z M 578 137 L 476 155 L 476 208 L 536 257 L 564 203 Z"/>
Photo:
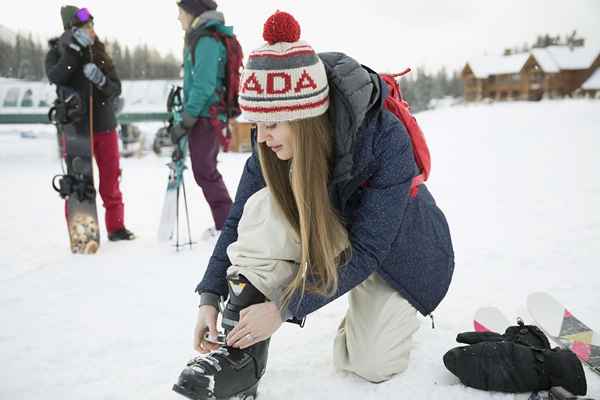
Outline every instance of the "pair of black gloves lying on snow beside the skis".
<path fill-rule="evenodd" d="M 553 386 L 575 395 L 587 391 L 577 356 L 558 347 L 551 349 L 548 338 L 536 326 L 519 320 L 503 335 L 465 332 L 456 341 L 468 346 L 448 351 L 444 365 L 466 386 L 508 393 L 549 390 Z"/>

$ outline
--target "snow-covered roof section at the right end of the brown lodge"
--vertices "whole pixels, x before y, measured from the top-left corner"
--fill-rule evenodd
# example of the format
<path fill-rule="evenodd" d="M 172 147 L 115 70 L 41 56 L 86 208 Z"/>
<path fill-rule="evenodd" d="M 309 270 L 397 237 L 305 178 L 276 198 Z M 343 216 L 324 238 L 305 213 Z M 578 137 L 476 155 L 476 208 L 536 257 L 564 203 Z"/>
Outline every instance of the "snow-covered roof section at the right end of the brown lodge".
<path fill-rule="evenodd" d="M 550 46 L 533 49 L 531 53 L 544 72 L 555 73 L 560 70 L 588 69 L 600 52 L 591 47 Z"/>

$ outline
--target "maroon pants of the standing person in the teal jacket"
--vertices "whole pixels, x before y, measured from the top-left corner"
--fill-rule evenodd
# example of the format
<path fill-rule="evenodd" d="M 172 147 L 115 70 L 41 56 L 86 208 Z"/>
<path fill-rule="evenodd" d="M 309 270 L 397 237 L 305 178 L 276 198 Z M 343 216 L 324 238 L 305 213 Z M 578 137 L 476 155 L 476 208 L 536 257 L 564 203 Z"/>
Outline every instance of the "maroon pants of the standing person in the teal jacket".
<path fill-rule="evenodd" d="M 225 124 L 219 120 L 199 118 L 189 134 L 192 171 L 210 206 L 215 228 L 222 229 L 231 209 L 231 198 L 223 177 L 217 170 L 219 138 Z"/>

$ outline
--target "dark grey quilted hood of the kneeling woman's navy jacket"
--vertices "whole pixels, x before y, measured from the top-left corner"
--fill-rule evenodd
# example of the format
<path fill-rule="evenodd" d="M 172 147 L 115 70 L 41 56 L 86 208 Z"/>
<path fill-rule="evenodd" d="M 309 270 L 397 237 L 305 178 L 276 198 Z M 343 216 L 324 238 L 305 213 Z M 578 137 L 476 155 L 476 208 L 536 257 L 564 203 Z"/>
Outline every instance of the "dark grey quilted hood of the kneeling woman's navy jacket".
<path fill-rule="evenodd" d="M 379 75 L 343 53 L 320 53 L 329 81 L 330 123 L 335 129 L 335 161 L 330 195 L 339 204 L 340 188 L 353 178 L 361 127 L 383 107 L 387 94 Z"/>

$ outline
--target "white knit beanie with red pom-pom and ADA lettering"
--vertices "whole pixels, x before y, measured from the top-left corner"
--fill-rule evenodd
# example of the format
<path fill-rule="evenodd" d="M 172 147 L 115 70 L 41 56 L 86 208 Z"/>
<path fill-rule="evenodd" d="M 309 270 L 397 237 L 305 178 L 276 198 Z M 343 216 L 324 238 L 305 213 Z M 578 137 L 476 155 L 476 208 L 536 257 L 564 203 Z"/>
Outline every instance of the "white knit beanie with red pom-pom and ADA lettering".
<path fill-rule="evenodd" d="M 300 25 L 277 11 L 263 30 L 267 43 L 252 51 L 240 79 L 239 104 L 251 122 L 282 122 L 316 117 L 329 107 L 325 66 L 300 40 Z"/>

